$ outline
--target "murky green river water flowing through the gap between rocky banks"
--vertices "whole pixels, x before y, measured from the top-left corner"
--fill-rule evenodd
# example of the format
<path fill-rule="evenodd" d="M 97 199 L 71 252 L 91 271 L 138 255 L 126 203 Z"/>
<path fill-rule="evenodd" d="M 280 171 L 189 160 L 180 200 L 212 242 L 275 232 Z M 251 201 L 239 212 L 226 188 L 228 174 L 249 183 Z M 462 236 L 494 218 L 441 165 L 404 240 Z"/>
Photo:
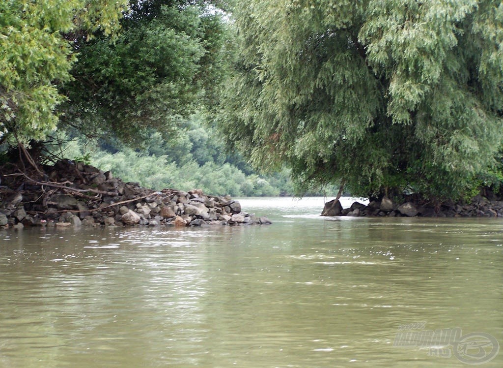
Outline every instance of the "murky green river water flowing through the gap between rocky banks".
<path fill-rule="evenodd" d="M 503 220 L 241 205 L 274 223 L 0 231 L 0 366 L 503 366 Z M 403 340 L 449 329 L 485 347 Z"/>

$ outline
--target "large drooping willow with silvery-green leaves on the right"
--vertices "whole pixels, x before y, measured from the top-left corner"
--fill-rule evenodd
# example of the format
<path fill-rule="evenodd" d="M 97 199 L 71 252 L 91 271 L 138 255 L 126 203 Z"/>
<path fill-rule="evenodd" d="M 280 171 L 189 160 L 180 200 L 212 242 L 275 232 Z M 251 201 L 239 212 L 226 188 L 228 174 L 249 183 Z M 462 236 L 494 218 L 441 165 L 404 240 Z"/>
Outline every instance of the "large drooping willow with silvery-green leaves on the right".
<path fill-rule="evenodd" d="M 301 188 L 466 195 L 497 164 L 503 5 L 248 0 L 226 95 L 227 140 Z"/>

